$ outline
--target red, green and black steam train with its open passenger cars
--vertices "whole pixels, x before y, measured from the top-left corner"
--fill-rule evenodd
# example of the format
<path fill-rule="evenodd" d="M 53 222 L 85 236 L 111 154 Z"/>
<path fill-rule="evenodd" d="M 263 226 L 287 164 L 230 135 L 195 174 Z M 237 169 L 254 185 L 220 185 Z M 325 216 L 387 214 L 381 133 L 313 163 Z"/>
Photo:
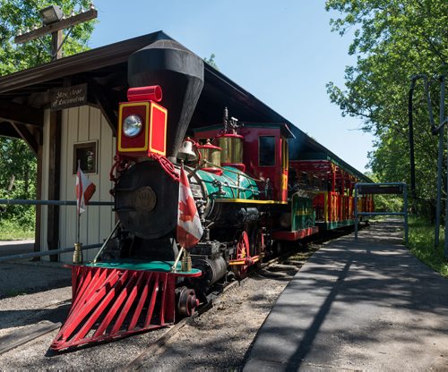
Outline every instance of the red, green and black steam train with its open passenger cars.
<path fill-rule="evenodd" d="M 116 229 L 98 258 L 72 266 L 54 351 L 172 325 L 286 241 L 354 224 L 357 176 L 323 156 L 294 156 L 301 144 L 286 123 L 245 123 L 223 107 L 222 123 L 190 127 L 203 68 L 174 40 L 130 56 L 110 172 Z M 181 173 L 202 231 L 188 249 L 177 239 Z M 374 208 L 368 195 L 358 205 Z"/>

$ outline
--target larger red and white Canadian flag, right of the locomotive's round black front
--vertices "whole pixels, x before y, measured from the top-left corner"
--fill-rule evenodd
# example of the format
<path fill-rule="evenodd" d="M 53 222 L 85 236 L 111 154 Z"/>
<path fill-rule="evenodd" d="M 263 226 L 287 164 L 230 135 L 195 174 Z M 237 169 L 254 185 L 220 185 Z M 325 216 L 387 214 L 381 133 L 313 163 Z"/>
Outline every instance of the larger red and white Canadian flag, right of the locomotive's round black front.
<path fill-rule="evenodd" d="M 177 215 L 177 242 L 182 248 L 194 247 L 202 238 L 202 224 L 194 203 L 190 182 L 184 167 L 180 170 L 179 211 Z"/>

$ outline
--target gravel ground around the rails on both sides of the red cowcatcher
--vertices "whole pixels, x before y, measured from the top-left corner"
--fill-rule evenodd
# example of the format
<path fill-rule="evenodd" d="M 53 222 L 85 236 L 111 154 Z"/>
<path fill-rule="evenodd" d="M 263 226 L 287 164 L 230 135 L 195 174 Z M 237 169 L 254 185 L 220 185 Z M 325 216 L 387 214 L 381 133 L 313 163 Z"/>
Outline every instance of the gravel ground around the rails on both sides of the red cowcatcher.
<path fill-rule="evenodd" d="M 246 351 L 286 280 L 254 275 L 225 292 L 219 302 L 185 325 L 143 370 L 223 370 L 243 365 Z M 0 300 L 0 338 L 42 320 L 65 319 L 70 287 Z M 26 303 L 25 309 L 24 303 Z M 47 307 L 46 309 L 42 309 Z M 17 310 L 21 309 L 21 310 Z M 57 331 L 0 356 L 0 370 L 122 370 L 166 329 L 56 354 L 48 347 Z"/>

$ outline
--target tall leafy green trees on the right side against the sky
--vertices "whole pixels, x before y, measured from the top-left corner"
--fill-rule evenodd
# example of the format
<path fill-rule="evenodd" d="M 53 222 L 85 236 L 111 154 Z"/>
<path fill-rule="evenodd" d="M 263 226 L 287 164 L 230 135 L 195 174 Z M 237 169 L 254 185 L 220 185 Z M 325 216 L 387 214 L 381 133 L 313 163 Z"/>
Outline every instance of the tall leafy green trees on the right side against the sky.
<path fill-rule="evenodd" d="M 353 34 L 345 87 L 327 90 L 342 114 L 363 119 L 363 130 L 376 135 L 370 165 L 382 182 L 409 182 L 408 94 L 410 77 L 431 78 L 431 97 L 438 118 L 436 78 L 447 70 L 448 2 L 446 0 L 328 0 L 339 12 L 332 30 Z M 434 78 L 434 79 L 433 79 Z M 414 135 L 418 196 L 435 198 L 437 138 L 431 134 L 424 89 L 414 94 Z"/>

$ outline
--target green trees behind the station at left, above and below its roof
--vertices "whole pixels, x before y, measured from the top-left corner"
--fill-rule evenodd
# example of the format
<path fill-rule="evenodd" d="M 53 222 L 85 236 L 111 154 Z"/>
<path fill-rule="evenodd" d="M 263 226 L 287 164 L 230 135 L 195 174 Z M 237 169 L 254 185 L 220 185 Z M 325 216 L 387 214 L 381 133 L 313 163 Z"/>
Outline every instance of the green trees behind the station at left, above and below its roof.
<path fill-rule="evenodd" d="M 19 33 L 41 26 L 39 9 L 57 4 L 66 16 L 78 13 L 90 5 L 88 0 L 0 0 L 0 76 L 47 63 L 51 56 L 51 37 L 47 35 L 25 44 L 16 45 L 13 39 Z M 94 21 L 73 27 L 63 47 L 64 56 L 87 50 Z M 66 32 L 66 30 L 65 30 Z M 0 199 L 35 199 L 37 163 L 34 153 L 22 139 L 0 137 Z M 34 224 L 34 208 L 0 206 L 0 230 L 20 225 L 30 230 Z"/>

